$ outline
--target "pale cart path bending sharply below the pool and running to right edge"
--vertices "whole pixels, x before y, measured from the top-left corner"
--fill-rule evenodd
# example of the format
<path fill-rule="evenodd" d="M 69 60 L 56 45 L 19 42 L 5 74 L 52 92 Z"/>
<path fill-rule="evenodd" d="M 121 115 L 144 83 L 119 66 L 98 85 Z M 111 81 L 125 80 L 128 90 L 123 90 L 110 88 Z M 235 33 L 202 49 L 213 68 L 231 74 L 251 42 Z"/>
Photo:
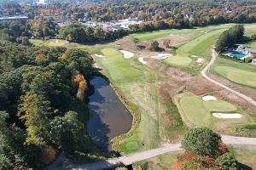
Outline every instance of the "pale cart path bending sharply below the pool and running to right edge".
<path fill-rule="evenodd" d="M 237 92 L 236 90 L 232 89 L 232 88 L 229 88 L 227 86 L 225 86 L 224 84 L 220 83 L 220 82 L 217 82 L 215 80 L 213 80 L 211 77 L 208 77 L 206 72 L 209 70 L 209 68 L 213 65 L 215 59 L 217 58 L 217 53 L 215 52 L 214 49 L 212 49 L 212 59 L 211 61 L 208 63 L 208 65 L 201 71 L 201 75 L 205 78 L 207 78 L 208 81 L 210 82 L 213 82 L 215 84 L 217 84 L 219 87 L 221 88 L 225 88 L 226 90 L 230 91 L 232 94 L 236 94 L 238 95 L 239 97 L 241 97 L 242 99 L 245 99 L 247 100 L 247 102 L 249 102 L 250 104 L 256 106 L 256 101 L 254 101 L 252 98 L 248 97 L 247 95 L 245 94 L 241 94 L 239 92 Z"/>

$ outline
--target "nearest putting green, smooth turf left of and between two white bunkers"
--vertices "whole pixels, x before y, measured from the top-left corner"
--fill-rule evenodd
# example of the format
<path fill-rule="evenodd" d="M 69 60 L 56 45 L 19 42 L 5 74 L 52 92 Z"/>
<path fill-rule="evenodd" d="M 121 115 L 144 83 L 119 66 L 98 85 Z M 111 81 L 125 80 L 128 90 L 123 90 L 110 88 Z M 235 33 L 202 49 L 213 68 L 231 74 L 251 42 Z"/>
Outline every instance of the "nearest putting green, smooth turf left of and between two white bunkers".
<path fill-rule="evenodd" d="M 205 127 L 213 126 L 215 122 L 225 121 L 212 116 L 213 111 L 237 112 L 236 106 L 224 100 L 203 101 L 200 96 L 185 94 L 179 100 L 183 114 L 189 124 Z"/>

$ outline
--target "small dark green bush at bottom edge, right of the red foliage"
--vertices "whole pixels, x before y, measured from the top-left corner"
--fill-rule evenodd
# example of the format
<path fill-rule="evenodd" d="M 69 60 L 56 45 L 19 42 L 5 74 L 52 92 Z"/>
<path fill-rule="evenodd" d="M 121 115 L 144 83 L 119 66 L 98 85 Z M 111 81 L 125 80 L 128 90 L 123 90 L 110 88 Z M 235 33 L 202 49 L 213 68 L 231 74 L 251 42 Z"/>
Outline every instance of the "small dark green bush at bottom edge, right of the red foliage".
<path fill-rule="evenodd" d="M 221 170 L 237 169 L 236 160 L 230 155 L 230 153 L 225 153 L 222 156 L 218 156 L 218 159 L 215 162 Z"/>

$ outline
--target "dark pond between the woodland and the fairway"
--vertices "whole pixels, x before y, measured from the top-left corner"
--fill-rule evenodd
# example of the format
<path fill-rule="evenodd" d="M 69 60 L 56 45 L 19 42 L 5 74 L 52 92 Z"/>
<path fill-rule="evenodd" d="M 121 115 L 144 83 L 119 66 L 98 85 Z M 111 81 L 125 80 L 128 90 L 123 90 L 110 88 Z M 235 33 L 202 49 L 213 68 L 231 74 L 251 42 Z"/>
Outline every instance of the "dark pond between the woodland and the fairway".
<path fill-rule="evenodd" d="M 132 116 L 109 82 L 102 77 L 90 80 L 94 93 L 89 97 L 87 132 L 103 150 L 111 150 L 110 140 L 131 129 Z"/>

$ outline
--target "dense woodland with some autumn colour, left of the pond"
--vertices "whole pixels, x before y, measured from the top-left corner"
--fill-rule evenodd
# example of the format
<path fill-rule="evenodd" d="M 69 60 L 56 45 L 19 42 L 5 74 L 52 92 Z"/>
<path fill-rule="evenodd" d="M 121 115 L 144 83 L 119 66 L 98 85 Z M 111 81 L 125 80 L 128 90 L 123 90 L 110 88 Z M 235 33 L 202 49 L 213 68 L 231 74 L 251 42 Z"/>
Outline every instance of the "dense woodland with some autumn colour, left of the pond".
<path fill-rule="evenodd" d="M 0 169 L 42 167 L 91 150 L 81 117 L 90 55 L 0 42 Z M 79 109 L 78 109 L 79 108 Z"/>

